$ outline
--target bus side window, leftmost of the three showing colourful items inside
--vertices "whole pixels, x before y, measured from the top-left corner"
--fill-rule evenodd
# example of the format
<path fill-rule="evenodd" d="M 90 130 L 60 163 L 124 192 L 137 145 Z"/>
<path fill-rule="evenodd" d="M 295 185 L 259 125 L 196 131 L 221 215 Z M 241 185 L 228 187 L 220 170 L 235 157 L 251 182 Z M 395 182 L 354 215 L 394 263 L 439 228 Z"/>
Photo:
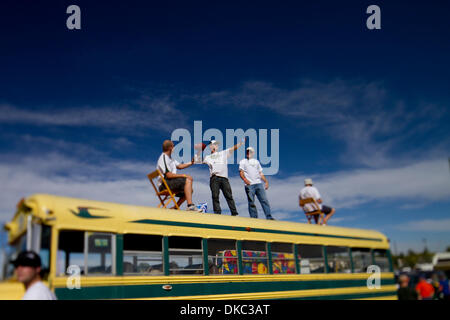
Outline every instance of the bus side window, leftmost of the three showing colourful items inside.
<path fill-rule="evenodd" d="M 209 274 L 238 274 L 235 240 L 208 239 Z"/>

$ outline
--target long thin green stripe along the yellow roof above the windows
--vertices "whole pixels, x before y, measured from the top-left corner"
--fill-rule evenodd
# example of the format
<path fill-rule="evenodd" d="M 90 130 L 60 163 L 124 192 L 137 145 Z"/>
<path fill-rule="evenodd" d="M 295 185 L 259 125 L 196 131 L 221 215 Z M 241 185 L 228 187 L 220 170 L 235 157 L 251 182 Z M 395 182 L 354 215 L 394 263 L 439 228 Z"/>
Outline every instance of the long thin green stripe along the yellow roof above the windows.
<path fill-rule="evenodd" d="M 223 225 L 218 225 L 218 224 L 203 224 L 203 223 L 193 223 L 193 222 L 179 222 L 179 221 L 151 220 L 151 219 L 141 219 L 141 220 L 134 220 L 134 221 L 129 221 L 129 222 L 131 222 L 131 223 L 159 224 L 159 225 L 168 225 L 168 226 L 177 226 L 177 227 L 189 227 L 189 228 L 205 228 L 205 229 L 227 230 L 227 231 L 247 231 L 247 232 L 262 232 L 262 233 L 277 233 L 277 234 L 289 234 L 289 235 L 297 235 L 297 236 L 315 236 L 315 237 L 324 237 L 324 238 L 367 240 L 367 241 L 378 241 L 378 242 L 383 241 L 380 238 L 338 236 L 338 235 L 332 235 L 332 234 L 319 234 L 319 233 L 284 231 L 284 230 L 261 229 L 261 228 L 247 229 L 246 227 L 223 226 Z"/>

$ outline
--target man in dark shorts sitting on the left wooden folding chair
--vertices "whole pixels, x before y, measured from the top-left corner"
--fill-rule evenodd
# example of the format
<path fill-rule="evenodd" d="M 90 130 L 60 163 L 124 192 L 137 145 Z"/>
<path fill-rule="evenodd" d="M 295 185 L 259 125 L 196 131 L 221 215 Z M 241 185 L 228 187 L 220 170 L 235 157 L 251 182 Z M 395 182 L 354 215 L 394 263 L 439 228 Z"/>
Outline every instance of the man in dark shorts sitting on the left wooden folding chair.
<path fill-rule="evenodd" d="M 190 167 L 194 162 L 181 164 L 178 161 L 172 159 L 172 151 L 174 144 L 170 140 L 165 140 L 162 145 L 163 152 L 158 159 L 156 169 L 164 175 L 164 178 L 169 186 L 170 190 L 180 197 L 177 204 L 181 204 L 187 200 L 187 210 L 196 211 L 195 205 L 192 203 L 192 182 L 193 179 L 188 174 L 177 174 L 177 169 L 182 170 Z M 164 183 L 159 182 L 159 191 L 163 191 L 166 188 Z"/>

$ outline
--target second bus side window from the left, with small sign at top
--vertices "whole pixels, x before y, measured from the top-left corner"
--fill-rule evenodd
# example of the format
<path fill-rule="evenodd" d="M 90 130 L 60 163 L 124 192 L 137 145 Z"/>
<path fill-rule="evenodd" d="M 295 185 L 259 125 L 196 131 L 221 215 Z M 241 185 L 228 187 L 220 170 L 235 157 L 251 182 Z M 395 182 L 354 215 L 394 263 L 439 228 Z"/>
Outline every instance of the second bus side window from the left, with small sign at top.
<path fill-rule="evenodd" d="M 112 274 L 113 235 L 110 233 L 87 232 L 88 274 Z"/>

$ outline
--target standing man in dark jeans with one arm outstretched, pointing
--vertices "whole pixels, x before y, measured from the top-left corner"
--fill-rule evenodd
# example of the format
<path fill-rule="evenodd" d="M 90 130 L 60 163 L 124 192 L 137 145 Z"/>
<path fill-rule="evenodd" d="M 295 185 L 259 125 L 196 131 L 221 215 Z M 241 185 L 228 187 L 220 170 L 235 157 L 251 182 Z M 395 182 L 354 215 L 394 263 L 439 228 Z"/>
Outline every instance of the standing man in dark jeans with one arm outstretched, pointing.
<path fill-rule="evenodd" d="M 220 208 L 219 195 L 220 190 L 227 200 L 228 207 L 230 208 L 231 215 L 237 216 L 238 212 L 236 210 L 236 205 L 233 200 L 233 194 L 231 191 L 230 182 L 228 181 L 228 157 L 233 154 L 233 151 L 237 150 L 240 146 L 244 144 L 243 142 L 237 145 L 218 152 L 219 143 L 212 140 L 209 147 L 211 149 L 211 154 L 203 159 L 204 164 L 207 164 L 210 172 L 209 187 L 211 188 L 212 200 L 213 200 L 213 210 L 214 213 L 221 214 L 222 209 Z M 196 162 L 200 162 L 200 155 L 196 155 Z"/>

